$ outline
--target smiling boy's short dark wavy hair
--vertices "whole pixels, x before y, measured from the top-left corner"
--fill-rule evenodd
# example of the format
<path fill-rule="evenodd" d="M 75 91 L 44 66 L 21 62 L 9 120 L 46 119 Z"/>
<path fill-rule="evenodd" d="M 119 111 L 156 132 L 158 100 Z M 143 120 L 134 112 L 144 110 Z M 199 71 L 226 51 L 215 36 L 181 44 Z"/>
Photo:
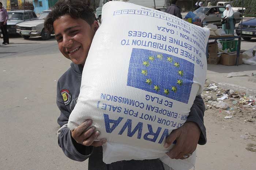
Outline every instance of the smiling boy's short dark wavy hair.
<path fill-rule="evenodd" d="M 83 0 L 59 0 L 45 19 L 45 29 L 53 32 L 53 22 L 63 15 L 70 15 L 74 19 L 81 18 L 89 25 L 95 21 L 93 9 Z"/>

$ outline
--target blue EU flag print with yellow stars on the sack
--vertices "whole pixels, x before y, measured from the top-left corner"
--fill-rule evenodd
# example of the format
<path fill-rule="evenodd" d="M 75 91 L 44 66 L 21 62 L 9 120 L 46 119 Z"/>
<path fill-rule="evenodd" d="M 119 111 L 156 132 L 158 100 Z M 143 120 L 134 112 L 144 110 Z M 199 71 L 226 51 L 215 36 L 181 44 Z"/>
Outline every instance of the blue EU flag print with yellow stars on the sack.
<path fill-rule="evenodd" d="M 127 85 L 188 103 L 194 64 L 173 55 L 133 48 Z"/>

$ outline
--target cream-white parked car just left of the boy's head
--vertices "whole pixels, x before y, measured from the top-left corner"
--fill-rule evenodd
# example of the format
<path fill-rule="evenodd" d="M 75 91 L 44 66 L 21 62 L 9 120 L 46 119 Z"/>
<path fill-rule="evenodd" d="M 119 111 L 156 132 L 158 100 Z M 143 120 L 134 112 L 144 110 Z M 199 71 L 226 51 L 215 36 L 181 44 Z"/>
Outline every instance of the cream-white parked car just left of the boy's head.
<path fill-rule="evenodd" d="M 17 33 L 24 39 L 30 36 L 41 36 L 43 40 L 48 40 L 53 32 L 47 32 L 44 28 L 44 20 L 51 10 L 42 11 L 41 15 L 33 21 L 26 21 L 16 25 Z"/>

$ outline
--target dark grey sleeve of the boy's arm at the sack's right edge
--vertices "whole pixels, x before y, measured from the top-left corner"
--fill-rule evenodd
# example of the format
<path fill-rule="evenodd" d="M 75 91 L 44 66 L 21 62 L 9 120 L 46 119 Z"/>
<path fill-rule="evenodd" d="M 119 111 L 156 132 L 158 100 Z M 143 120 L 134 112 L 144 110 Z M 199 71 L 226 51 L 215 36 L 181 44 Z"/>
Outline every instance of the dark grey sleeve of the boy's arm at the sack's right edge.
<path fill-rule="evenodd" d="M 190 113 L 186 122 L 194 122 L 199 127 L 201 133 L 198 144 L 204 145 L 207 142 L 206 127 L 204 126 L 204 100 L 201 95 L 196 96 L 196 99 L 190 109 Z"/>

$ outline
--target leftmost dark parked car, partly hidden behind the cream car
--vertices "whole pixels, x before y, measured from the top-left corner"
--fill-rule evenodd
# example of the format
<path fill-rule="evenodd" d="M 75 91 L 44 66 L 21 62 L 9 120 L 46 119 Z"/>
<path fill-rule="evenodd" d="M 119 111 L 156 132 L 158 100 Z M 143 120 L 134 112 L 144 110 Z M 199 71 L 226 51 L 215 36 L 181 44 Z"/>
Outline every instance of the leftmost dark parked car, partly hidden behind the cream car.
<path fill-rule="evenodd" d="M 32 10 L 15 10 L 9 11 L 7 20 L 8 34 L 16 34 L 16 24 L 37 19 L 37 15 Z"/>

